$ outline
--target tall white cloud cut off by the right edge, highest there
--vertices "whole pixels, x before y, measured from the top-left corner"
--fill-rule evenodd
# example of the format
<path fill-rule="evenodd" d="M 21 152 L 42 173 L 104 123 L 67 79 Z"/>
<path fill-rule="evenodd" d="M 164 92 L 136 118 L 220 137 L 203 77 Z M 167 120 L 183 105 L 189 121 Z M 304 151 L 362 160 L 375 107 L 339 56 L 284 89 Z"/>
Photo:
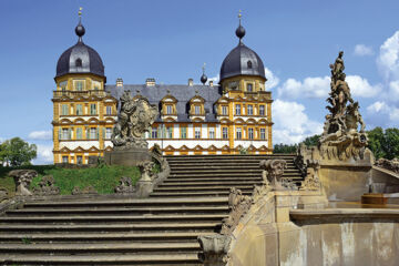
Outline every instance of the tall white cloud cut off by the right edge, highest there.
<path fill-rule="evenodd" d="M 399 79 L 399 31 L 380 47 L 377 65 L 387 81 Z"/>

